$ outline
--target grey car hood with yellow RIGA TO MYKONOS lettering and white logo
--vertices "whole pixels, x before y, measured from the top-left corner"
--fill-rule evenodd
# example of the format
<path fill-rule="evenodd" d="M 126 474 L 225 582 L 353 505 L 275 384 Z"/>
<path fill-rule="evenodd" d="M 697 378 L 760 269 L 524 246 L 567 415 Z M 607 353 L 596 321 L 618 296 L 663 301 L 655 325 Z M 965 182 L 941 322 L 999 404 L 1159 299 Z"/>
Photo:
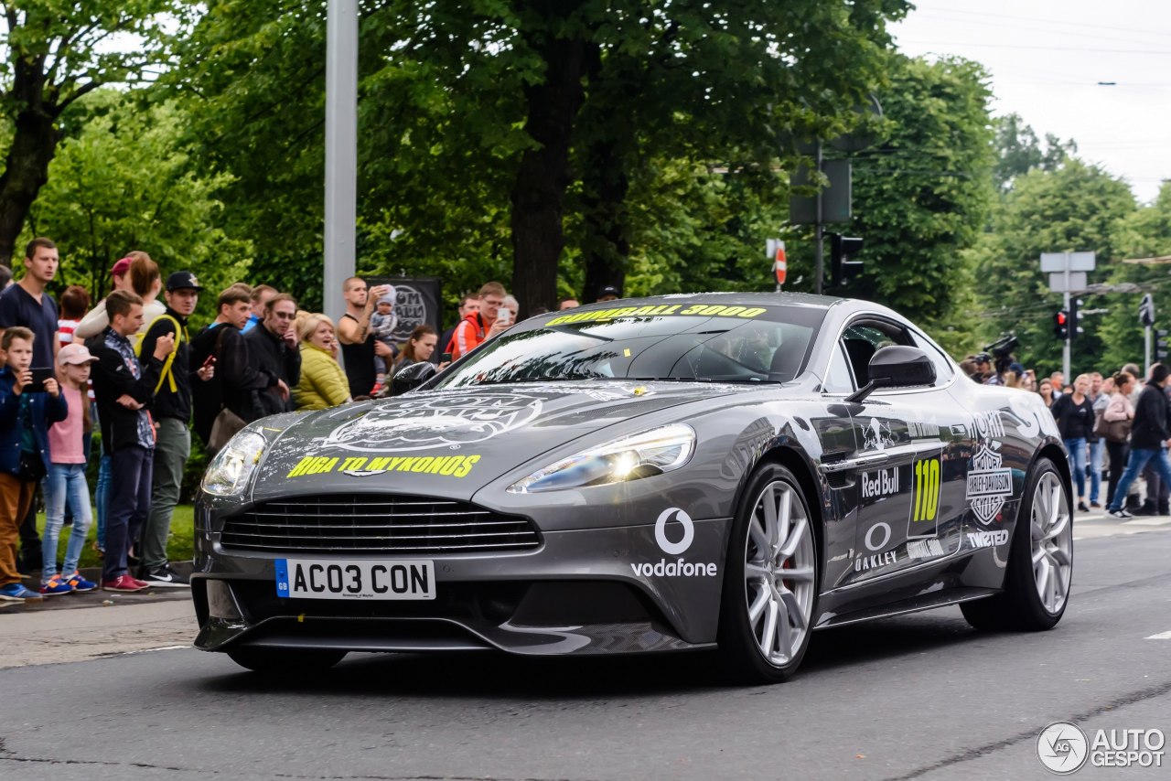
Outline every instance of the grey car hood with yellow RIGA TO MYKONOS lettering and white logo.
<path fill-rule="evenodd" d="M 391 491 L 467 500 L 509 470 L 598 429 L 744 390 L 712 383 L 584 381 L 348 404 L 297 416 L 276 434 L 252 499 Z M 615 437 L 636 431 L 623 426 Z"/>

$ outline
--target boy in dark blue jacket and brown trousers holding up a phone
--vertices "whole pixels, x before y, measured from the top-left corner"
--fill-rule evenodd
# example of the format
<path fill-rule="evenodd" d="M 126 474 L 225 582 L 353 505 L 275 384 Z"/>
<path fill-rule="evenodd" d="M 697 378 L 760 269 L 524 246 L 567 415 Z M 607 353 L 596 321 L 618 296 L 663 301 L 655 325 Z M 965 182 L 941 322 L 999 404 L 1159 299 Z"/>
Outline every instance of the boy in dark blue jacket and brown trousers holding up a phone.
<path fill-rule="evenodd" d="M 69 413 L 52 368 L 34 370 L 33 331 L 7 328 L 0 337 L 0 601 L 41 595 L 25 588 L 16 571 L 16 541 L 36 484 L 52 468 L 49 426 Z"/>

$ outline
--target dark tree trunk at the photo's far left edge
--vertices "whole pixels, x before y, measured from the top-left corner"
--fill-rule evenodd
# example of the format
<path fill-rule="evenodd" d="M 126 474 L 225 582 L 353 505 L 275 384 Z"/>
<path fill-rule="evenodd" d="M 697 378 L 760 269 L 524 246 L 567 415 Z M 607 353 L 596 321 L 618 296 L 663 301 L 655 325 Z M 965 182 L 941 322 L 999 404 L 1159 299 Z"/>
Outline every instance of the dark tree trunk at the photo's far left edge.
<path fill-rule="evenodd" d="M 0 176 L 0 263 L 7 266 L 12 266 L 28 210 L 41 186 L 49 180 L 49 163 L 61 141 L 61 132 L 54 126 L 56 107 L 46 105 L 43 100 L 42 64 L 18 62 L 9 93 L 22 108 L 16 115 L 12 148 Z"/>

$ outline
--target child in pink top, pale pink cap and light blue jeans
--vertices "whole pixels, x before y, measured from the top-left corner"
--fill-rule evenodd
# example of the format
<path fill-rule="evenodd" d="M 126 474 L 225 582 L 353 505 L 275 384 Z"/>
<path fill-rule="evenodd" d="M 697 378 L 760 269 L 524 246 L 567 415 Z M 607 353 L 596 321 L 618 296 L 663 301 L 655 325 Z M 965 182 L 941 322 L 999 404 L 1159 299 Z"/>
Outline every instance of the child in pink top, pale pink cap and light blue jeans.
<path fill-rule="evenodd" d="M 89 372 L 97 358 L 83 344 L 66 344 L 57 352 L 57 377 L 61 396 L 69 415 L 49 429 L 52 466 L 44 480 L 44 534 L 41 547 L 41 594 L 83 594 L 97 583 L 82 577 L 77 561 L 85 547 L 85 534 L 93 520 L 89 486 L 85 482 L 85 434 L 94 427 L 89 417 Z M 66 560 L 57 573 L 57 537 L 66 520 L 66 502 L 73 511 L 73 527 Z"/>

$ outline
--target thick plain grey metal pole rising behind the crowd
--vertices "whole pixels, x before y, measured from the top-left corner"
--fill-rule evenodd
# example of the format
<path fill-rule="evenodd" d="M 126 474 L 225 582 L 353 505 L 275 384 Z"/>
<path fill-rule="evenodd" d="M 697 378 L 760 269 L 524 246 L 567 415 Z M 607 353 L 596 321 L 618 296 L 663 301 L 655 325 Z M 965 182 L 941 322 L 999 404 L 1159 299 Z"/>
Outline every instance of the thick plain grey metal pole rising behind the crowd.
<path fill-rule="evenodd" d="M 322 308 L 345 314 L 354 276 L 358 158 L 358 0 L 329 0 L 326 22 L 326 267 Z M 341 356 L 338 356 L 341 357 Z"/>

